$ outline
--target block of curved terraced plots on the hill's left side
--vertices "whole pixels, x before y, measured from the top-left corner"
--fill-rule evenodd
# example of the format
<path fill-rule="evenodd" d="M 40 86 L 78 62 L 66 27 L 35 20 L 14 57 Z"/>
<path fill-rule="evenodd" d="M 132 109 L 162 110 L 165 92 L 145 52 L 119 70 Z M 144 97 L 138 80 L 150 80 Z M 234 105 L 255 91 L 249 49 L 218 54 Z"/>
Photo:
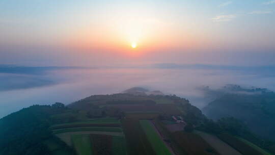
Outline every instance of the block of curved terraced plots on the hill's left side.
<path fill-rule="evenodd" d="M 126 155 L 126 142 L 120 121 L 113 118 L 95 119 L 51 126 L 53 134 L 77 155 L 121 154 Z"/>

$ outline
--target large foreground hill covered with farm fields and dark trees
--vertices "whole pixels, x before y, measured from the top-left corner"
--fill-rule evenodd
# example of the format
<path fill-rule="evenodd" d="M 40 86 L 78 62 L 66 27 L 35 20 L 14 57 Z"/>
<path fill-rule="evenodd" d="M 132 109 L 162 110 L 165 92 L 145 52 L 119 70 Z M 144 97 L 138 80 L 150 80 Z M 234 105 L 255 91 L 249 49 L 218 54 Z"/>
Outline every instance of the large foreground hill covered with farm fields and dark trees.
<path fill-rule="evenodd" d="M 273 146 L 239 120 L 214 122 L 185 98 L 146 93 L 31 106 L 0 119 L 0 137 L 1 155 L 261 155 Z"/>

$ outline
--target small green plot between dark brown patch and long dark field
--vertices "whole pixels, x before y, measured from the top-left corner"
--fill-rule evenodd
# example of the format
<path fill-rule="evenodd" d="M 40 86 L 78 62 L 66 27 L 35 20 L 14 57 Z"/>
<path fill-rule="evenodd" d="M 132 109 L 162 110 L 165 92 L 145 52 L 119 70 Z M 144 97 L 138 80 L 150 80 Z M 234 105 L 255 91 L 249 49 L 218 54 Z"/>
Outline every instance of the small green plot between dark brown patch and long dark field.
<path fill-rule="evenodd" d="M 113 136 L 112 141 L 113 155 L 126 155 L 126 142 L 124 137 Z"/>

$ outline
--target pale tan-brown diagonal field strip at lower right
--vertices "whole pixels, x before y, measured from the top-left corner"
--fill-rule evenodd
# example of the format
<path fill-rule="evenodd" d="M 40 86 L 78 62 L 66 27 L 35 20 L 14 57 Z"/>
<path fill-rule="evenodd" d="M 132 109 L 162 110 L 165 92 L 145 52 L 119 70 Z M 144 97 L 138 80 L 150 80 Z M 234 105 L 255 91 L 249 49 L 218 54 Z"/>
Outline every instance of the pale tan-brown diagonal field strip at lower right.
<path fill-rule="evenodd" d="M 241 155 L 236 149 L 223 142 L 221 139 L 214 135 L 210 135 L 204 132 L 196 131 L 196 134 L 200 135 L 208 144 L 210 144 L 219 154 L 222 155 Z"/>

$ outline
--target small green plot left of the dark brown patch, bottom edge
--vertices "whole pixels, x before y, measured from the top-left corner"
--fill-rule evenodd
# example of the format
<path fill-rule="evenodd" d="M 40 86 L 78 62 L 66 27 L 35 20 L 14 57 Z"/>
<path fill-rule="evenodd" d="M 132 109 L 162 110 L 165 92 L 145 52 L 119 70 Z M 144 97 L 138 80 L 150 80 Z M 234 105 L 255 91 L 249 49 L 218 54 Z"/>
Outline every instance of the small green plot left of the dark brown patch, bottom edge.
<path fill-rule="evenodd" d="M 89 135 L 72 135 L 71 139 L 77 155 L 93 154 Z"/>

